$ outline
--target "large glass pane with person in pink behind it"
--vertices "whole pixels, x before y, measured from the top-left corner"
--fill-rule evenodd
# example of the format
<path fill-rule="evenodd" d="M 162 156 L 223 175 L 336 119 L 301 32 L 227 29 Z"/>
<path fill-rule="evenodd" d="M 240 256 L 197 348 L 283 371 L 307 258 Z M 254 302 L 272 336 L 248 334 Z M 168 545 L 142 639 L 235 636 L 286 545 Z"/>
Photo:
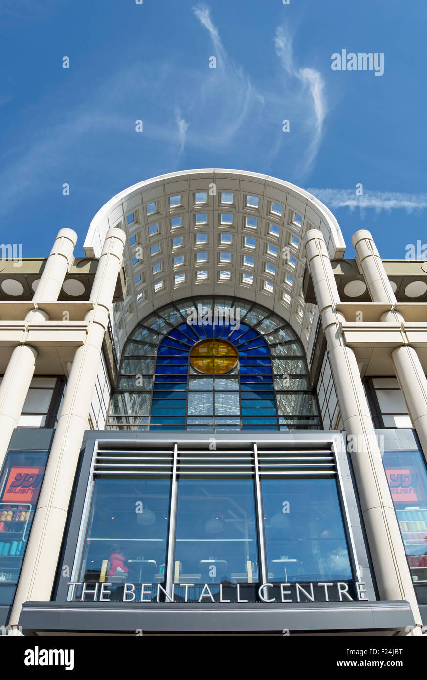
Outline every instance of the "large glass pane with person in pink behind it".
<path fill-rule="evenodd" d="M 112 601 L 122 601 L 126 582 L 139 590 L 141 583 L 164 583 L 169 488 L 168 478 L 95 480 L 76 579 L 79 599 L 93 601 L 100 583 L 111 584 L 105 597 Z"/>

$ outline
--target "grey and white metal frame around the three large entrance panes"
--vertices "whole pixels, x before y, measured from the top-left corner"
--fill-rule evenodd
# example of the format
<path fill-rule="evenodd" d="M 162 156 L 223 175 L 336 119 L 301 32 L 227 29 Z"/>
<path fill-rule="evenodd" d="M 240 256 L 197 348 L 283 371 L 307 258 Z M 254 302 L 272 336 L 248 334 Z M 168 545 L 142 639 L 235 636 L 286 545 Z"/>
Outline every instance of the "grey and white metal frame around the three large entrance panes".
<path fill-rule="evenodd" d="M 253 469 L 245 473 L 245 477 L 250 477 L 254 484 L 254 509 L 255 509 L 255 524 L 256 536 L 258 539 L 257 553 L 259 577 L 262 578 L 262 583 L 268 582 L 267 571 L 267 553 L 265 549 L 264 524 L 262 513 L 262 491 L 261 479 L 262 471 L 259 468 L 258 447 L 274 446 L 277 448 L 284 448 L 290 451 L 305 447 L 308 451 L 319 451 L 326 449 L 332 455 L 336 473 L 335 479 L 337 481 L 338 500 L 341 508 L 341 515 L 343 518 L 343 526 L 345 530 L 345 537 L 347 539 L 347 547 L 349 552 L 350 563 L 352 564 L 352 572 L 354 580 L 364 583 L 365 596 L 371 600 L 377 600 L 375 581 L 371 573 L 370 559 L 368 548 L 364 539 L 364 532 L 362 529 L 362 522 L 360 520 L 360 513 L 358 510 L 358 503 L 356 499 L 356 492 L 352 481 L 349 461 L 347 459 L 347 451 L 345 444 L 345 436 L 342 432 L 305 432 L 304 434 L 288 434 L 279 435 L 279 433 L 262 432 L 259 436 L 254 438 L 254 432 L 220 432 L 216 435 L 217 444 L 220 447 L 216 449 L 220 453 L 222 449 L 228 452 L 245 450 L 245 447 L 252 450 Z M 211 452 L 207 452 L 206 435 L 202 432 L 163 432 L 162 441 L 154 439 L 151 432 L 139 432 L 135 437 L 134 432 L 88 432 L 86 446 L 84 448 L 82 469 L 78 484 L 75 488 L 75 496 L 73 498 L 73 509 L 68 517 L 67 530 L 65 534 L 65 549 L 63 553 L 62 564 L 72 564 L 71 577 L 63 577 L 58 567 L 58 578 L 56 579 L 57 588 L 54 599 L 56 601 L 67 601 L 70 594 L 70 587 L 67 585 L 68 581 L 77 581 L 78 572 L 82 560 L 82 551 L 84 550 L 86 537 L 86 530 L 88 526 L 88 519 L 90 510 L 92 509 L 93 491 L 95 489 L 95 461 L 103 450 L 111 450 L 118 448 L 123 450 L 123 447 L 130 451 L 138 450 L 139 447 L 153 447 L 154 449 L 163 449 L 169 447 L 173 450 L 173 464 L 170 471 L 171 486 L 169 495 L 169 525 L 167 534 L 166 546 L 166 568 L 165 568 L 165 583 L 167 592 L 171 591 L 171 584 L 173 582 L 173 564 L 174 564 L 174 550 L 175 550 L 175 530 L 176 530 L 176 512 L 177 512 L 177 483 L 180 475 L 180 452 L 186 452 L 186 447 L 194 452 L 204 449 L 206 454 L 203 460 L 209 462 Z M 233 460 L 233 459 L 231 459 Z M 235 461 L 239 464 L 239 459 Z M 209 465 L 208 465 L 209 466 Z M 206 471 L 204 469 L 203 475 L 216 475 L 216 469 Z M 225 473 L 229 474 L 229 473 Z M 236 472 L 235 474 L 241 474 Z M 277 474 L 281 474 L 280 472 Z M 294 474 L 298 474 L 297 472 Z M 307 472 L 313 475 L 313 471 Z M 325 473 L 323 473 L 325 474 Z M 330 471 L 326 474 L 330 475 Z M 315 476 L 320 476 L 319 474 Z M 362 572 L 362 573 L 361 573 Z M 169 590 L 168 590 L 169 588 Z"/>

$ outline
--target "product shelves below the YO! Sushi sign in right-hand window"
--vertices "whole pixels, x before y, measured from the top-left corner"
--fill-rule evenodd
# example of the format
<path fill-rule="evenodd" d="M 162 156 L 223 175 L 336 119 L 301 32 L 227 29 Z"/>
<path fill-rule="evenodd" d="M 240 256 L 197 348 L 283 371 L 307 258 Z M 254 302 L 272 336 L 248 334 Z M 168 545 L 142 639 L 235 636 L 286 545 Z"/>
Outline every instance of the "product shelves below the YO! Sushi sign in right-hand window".
<path fill-rule="evenodd" d="M 427 509 L 405 507 L 397 517 L 415 583 L 427 583 Z"/>

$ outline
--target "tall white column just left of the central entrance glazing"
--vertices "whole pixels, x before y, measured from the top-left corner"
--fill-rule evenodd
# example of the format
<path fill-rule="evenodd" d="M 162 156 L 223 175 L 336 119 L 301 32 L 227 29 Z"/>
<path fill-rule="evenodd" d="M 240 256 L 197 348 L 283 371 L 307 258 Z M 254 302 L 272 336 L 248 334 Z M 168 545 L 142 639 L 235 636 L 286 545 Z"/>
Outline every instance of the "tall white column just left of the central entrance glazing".
<path fill-rule="evenodd" d="M 110 229 L 105 237 L 89 298 L 94 303 L 94 309 L 86 314 L 88 335 L 86 343 L 78 348 L 73 359 L 22 564 L 10 625 L 18 624 L 22 602 L 50 599 L 80 447 L 95 389 L 103 337 L 122 265 L 125 239 L 126 235 L 120 229 Z"/>

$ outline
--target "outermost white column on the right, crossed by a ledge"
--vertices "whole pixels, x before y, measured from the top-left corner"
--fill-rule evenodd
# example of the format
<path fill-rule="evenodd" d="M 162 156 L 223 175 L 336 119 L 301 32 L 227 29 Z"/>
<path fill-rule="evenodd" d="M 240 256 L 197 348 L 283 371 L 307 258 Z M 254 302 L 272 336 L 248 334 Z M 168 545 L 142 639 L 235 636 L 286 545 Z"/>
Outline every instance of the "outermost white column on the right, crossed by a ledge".
<path fill-rule="evenodd" d="M 372 301 L 396 305 L 396 296 L 371 233 L 364 229 L 356 231 L 352 241 Z M 404 318 L 401 313 L 393 310 L 384 313 L 381 321 L 403 322 Z M 408 413 L 427 460 L 427 380 L 420 359 L 413 347 L 402 345 L 393 350 L 392 361 Z"/>

